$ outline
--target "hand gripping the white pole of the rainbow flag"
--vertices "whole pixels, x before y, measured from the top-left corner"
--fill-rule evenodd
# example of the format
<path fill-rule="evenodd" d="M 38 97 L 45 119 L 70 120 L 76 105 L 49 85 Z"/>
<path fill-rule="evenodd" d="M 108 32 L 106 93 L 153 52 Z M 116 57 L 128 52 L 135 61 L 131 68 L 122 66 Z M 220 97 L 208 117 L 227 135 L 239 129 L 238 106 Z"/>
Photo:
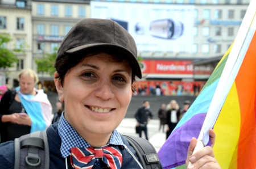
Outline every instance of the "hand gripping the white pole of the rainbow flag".
<path fill-rule="evenodd" d="M 197 140 L 194 137 L 192 138 L 190 145 L 188 147 L 186 166 L 188 167 L 189 160 L 193 163 L 193 165 L 188 169 L 221 168 L 217 160 L 214 158 L 214 153 L 212 149 L 215 143 L 215 137 L 216 137 L 215 133 L 213 132 L 212 129 L 210 129 L 209 134 L 210 134 L 210 141 L 212 142 L 212 145 L 203 147 L 193 155 L 192 153 L 193 153 L 193 150 L 195 149 Z"/>

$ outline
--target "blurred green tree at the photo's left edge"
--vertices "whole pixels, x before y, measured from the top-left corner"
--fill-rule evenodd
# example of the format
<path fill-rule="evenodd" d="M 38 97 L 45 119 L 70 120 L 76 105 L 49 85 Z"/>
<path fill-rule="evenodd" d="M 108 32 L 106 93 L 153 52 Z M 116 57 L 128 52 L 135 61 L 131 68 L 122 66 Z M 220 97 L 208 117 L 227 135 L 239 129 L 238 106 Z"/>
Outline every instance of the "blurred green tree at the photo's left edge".
<path fill-rule="evenodd" d="M 19 61 L 14 52 L 20 52 L 20 50 L 14 49 L 13 52 L 6 48 L 10 41 L 11 38 L 7 33 L 0 33 L 0 68 L 12 67 L 13 63 Z"/>

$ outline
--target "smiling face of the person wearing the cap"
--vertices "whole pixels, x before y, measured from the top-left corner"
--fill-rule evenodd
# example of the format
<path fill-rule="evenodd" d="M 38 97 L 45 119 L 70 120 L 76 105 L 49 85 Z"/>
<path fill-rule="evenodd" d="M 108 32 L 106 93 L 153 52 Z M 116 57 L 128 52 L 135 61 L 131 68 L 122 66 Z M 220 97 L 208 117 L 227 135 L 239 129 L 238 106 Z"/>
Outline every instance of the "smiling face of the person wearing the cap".
<path fill-rule="evenodd" d="M 110 136 L 121 123 L 131 100 L 131 73 L 127 61 L 100 53 L 72 67 L 63 87 L 55 79 L 65 119 L 85 140 L 93 134 Z"/>

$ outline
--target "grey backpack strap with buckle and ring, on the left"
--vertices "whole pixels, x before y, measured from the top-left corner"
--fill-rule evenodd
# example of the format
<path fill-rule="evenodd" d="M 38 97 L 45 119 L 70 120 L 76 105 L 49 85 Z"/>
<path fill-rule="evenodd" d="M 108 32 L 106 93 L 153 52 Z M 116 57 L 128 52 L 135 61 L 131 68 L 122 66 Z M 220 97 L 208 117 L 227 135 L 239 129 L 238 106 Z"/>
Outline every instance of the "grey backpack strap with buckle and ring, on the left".
<path fill-rule="evenodd" d="M 49 145 L 46 130 L 34 132 L 14 140 L 14 169 L 48 169 Z"/>

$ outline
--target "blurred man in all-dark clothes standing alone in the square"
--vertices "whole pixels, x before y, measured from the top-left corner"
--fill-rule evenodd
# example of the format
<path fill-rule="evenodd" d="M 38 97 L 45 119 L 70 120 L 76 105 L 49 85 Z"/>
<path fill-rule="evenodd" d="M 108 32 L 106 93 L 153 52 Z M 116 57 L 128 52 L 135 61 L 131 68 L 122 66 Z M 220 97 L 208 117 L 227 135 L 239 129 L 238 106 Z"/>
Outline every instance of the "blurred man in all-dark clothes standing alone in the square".
<path fill-rule="evenodd" d="M 153 118 L 153 115 L 150 111 L 150 102 L 144 100 L 141 108 L 138 108 L 135 113 L 135 119 L 137 120 L 137 126 L 139 126 L 139 137 L 142 137 L 142 131 L 145 134 L 146 140 L 147 136 L 147 123 Z"/>

